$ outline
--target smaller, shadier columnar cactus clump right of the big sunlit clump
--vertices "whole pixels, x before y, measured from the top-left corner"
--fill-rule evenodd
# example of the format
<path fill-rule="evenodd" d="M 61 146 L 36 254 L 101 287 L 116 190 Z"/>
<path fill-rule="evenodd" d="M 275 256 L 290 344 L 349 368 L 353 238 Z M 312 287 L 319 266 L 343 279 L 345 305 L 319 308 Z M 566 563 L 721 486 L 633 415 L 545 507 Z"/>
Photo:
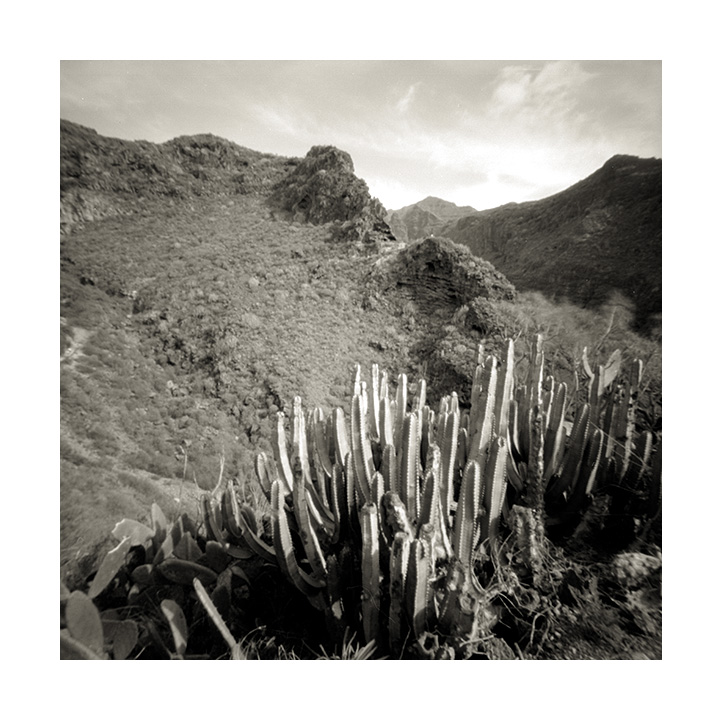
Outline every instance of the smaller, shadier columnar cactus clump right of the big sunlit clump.
<path fill-rule="evenodd" d="M 551 376 L 544 379 L 541 337 L 537 336 L 527 385 L 518 386 L 509 403 L 511 500 L 535 509 L 539 522 L 564 532 L 580 522 L 594 493 L 614 493 L 620 483 L 636 482 L 632 475 L 640 472 L 635 465 L 624 480 L 634 448 L 641 442 L 635 418 L 642 363 L 635 361 L 629 380 L 622 381 L 618 380 L 621 353 L 617 351 L 592 371 L 585 350 L 583 366 L 589 380 L 586 401 L 570 402 L 564 383 L 556 383 Z M 567 435 L 570 406 L 577 409 Z"/>

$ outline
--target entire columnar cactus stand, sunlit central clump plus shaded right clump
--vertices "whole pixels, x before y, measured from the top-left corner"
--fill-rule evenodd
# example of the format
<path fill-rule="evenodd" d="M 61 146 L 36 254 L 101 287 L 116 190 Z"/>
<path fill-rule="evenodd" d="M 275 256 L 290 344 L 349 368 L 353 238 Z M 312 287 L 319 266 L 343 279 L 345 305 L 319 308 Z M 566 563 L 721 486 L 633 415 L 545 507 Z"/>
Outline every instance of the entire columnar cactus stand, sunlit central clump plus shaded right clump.
<path fill-rule="evenodd" d="M 541 535 L 527 528 L 526 537 L 543 537 L 545 523 L 578 520 L 610 468 L 630 485 L 648 470 L 651 440 L 639 456 L 633 439 L 641 364 L 629 387 L 613 386 L 618 355 L 592 372 L 589 402 L 568 434 L 568 388 L 545 375 L 540 337 L 525 384 L 515 383 L 513 342 L 502 362 L 485 358 L 481 347 L 479 358 L 463 411 L 454 393 L 433 412 L 425 382 L 414 394 L 403 374 L 392 398 L 385 373 L 373 366 L 367 385 L 357 366 L 349 424 L 340 408 L 328 420 L 320 409 L 304 415 L 296 398 L 292 448 L 279 413 L 275 463 L 261 454 L 256 464 L 261 488 L 267 495 L 271 488 L 281 571 L 314 606 L 329 611 L 335 604 L 350 624 L 360 618 L 366 641 L 392 652 L 405 632 L 420 646 L 429 632 L 463 627 L 463 642 L 447 645 L 463 652 L 473 641 L 489 615 L 478 569 L 502 562 L 503 516 L 512 505 L 526 505 L 532 515 L 525 524 L 536 518 L 541 527 Z M 207 514 L 212 526 L 215 516 Z M 246 544 L 268 558 L 249 524 L 237 524 Z M 339 609 L 329 567 L 337 567 L 342 549 L 355 558 L 362 591 L 356 607 Z M 539 556 L 539 548 L 528 553 Z"/>

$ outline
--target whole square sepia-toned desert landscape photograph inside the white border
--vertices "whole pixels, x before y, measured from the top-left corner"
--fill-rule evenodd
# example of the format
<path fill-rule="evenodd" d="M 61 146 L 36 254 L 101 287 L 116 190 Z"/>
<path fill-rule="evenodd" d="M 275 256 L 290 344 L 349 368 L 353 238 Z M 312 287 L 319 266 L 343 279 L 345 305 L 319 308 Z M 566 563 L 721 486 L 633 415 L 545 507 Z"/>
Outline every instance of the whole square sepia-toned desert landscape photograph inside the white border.
<path fill-rule="evenodd" d="M 660 59 L 59 84 L 61 660 L 662 659 Z"/>

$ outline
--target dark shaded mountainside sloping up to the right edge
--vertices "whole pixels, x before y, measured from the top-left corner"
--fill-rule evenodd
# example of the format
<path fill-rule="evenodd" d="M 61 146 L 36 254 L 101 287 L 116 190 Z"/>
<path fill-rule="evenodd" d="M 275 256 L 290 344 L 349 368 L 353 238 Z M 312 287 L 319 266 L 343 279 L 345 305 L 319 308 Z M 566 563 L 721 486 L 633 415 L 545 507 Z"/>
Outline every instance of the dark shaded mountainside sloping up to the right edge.
<path fill-rule="evenodd" d="M 423 201 L 422 201 L 423 202 Z M 554 195 L 439 223 L 421 205 L 389 224 L 408 240 L 428 233 L 467 245 L 519 290 L 599 307 L 614 292 L 651 330 L 662 311 L 662 161 L 615 155 Z M 402 227 L 401 227 L 402 226 Z"/>

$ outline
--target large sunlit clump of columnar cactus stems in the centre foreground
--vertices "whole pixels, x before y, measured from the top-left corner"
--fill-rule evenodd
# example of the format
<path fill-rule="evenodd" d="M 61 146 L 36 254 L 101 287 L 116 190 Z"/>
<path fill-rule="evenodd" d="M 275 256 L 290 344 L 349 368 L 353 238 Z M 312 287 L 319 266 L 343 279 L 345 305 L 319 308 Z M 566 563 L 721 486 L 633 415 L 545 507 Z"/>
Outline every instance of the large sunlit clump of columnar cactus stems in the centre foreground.
<path fill-rule="evenodd" d="M 501 373 L 489 358 L 477 375 L 463 418 L 455 394 L 434 413 L 426 405 L 425 382 L 411 397 L 403 374 L 391 399 L 387 376 L 376 366 L 370 388 L 356 368 L 350 428 L 340 408 L 326 420 L 319 409 L 304 414 L 295 398 L 291 442 L 279 413 L 273 460 L 261 453 L 256 461 L 271 504 L 272 543 L 247 517 L 249 508 L 227 497 L 232 489 L 224 493 L 220 513 L 210 497 L 204 499 L 207 532 L 274 561 L 337 621 L 353 624 L 360 617 L 364 638 L 380 647 L 398 651 L 404 633 L 421 642 L 438 626 L 442 606 L 450 627 L 452 607 L 479 605 L 479 584 L 471 579 L 483 557 L 477 550 L 498 543 L 508 441 L 495 432 L 495 410 L 508 426 L 513 345 Z M 360 568 L 357 607 L 338 599 L 342 552 Z M 460 582 L 445 581 L 450 562 L 458 564 Z M 453 603 L 444 603 L 448 592 Z"/>

